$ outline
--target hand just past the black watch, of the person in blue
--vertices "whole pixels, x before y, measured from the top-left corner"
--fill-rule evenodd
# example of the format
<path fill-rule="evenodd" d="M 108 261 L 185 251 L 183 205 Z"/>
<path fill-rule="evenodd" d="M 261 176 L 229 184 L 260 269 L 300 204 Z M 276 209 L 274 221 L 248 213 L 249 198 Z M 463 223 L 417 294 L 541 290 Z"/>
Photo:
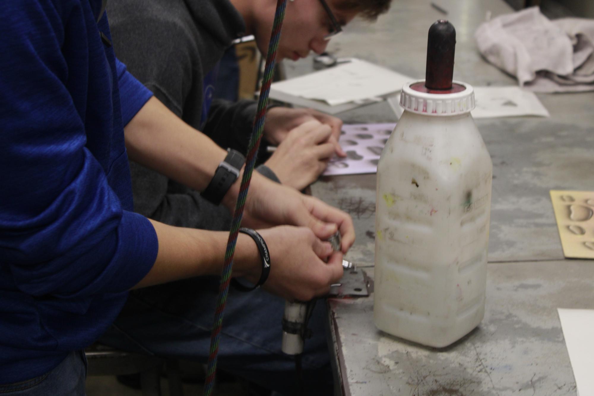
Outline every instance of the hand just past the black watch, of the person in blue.
<path fill-rule="evenodd" d="M 223 198 L 223 204 L 231 211 L 235 209 L 238 193 L 239 180 Z M 355 227 L 348 214 L 325 204 L 320 199 L 274 183 L 257 172 L 252 173 L 242 226 L 262 229 L 285 224 L 308 227 L 321 240 L 328 239 L 339 230 L 343 254 L 346 254 L 355 242 Z"/>

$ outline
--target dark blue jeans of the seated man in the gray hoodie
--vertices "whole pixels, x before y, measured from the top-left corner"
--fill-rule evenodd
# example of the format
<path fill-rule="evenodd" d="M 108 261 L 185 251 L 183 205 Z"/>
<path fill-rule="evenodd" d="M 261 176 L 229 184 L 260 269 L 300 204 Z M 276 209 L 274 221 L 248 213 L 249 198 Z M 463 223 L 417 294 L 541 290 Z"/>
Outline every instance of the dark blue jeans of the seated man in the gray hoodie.
<path fill-rule="evenodd" d="M 219 283 L 201 277 L 135 290 L 99 342 L 118 349 L 206 363 Z M 231 287 L 220 334 L 217 368 L 283 395 L 296 388 L 295 360 L 281 351 L 285 300 L 264 290 Z M 302 367 L 306 395 L 333 394 L 326 331 L 319 301 L 309 322 Z"/>

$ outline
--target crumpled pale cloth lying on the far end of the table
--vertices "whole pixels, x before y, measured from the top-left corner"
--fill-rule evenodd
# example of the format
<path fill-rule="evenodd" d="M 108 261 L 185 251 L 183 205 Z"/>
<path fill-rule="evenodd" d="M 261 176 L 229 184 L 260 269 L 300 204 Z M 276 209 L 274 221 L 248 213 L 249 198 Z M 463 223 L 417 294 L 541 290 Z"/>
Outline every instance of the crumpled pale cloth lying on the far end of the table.
<path fill-rule="evenodd" d="M 536 92 L 594 90 L 594 20 L 550 21 L 538 7 L 501 15 L 479 26 L 479 51 Z"/>

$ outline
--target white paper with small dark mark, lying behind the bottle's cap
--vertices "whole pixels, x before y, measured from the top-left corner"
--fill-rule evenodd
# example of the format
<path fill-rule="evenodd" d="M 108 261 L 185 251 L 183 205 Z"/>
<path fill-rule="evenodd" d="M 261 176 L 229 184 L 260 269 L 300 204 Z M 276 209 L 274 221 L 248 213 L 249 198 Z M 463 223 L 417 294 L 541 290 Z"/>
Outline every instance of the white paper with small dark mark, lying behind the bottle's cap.
<path fill-rule="evenodd" d="M 517 116 L 549 117 L 549 112 L 530 91 L 520 87 L 473 87 L 475 90 L 476 107 L 472 110 L 472 117 L 500 118 Z M 400 95 L 388 99 L 388 104 L 398 118 L 404 111 L 399 104 Z"/>

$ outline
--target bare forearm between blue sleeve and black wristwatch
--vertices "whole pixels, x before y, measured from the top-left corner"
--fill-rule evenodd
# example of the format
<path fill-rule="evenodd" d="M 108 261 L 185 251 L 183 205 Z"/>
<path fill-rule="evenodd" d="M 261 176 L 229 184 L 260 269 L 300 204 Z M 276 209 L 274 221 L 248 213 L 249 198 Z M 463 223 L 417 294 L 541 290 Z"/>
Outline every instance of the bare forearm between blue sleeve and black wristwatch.
<path fill-rule="evenodd" d="M 151 98 L 124 128 L 130 159 L 203 191 L 226 152 Z"/>

